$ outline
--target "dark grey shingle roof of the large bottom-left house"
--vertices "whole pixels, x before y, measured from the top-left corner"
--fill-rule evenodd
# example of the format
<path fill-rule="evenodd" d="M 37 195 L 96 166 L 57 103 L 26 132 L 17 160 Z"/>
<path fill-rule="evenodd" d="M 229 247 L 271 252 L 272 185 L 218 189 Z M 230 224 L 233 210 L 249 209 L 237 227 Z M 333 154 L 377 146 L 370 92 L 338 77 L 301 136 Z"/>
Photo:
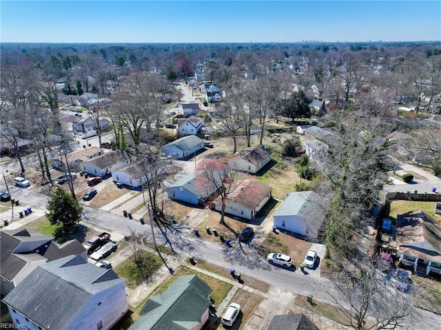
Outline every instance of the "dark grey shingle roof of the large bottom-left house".
<path fill-rule="evenodd" d="M 68 256 L 34 269 L 3 302 L 45 329 L 66 329 L 94 293 L 122 281 L 112 269 Z"/>

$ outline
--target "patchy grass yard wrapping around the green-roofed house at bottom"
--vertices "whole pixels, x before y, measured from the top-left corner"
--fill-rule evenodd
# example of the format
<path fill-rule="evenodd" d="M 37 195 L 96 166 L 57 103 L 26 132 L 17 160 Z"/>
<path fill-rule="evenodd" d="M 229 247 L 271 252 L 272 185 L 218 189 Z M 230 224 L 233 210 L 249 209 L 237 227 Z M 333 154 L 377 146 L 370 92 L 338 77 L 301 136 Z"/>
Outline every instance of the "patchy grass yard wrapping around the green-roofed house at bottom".
<path fill-rule="evenodd" d="M 217 278 L 212 278 L 211 276 L 198 273 L 197 271 L 194 271 L 193 269 L 190 269 L 188 267 L 179 267 L 175 272 L 173 276 L 170 276 L 165 280 L 161 285 L 159 285 L 141 304 L 139 304 L 132 313 L 132 319 L 138 320 L 139 319 L 139 313 L 143 309 L 145 302 L 147 302 L 147 299 L 151 296 L 156 296 L 157 294 L 163 293 L 165 290 L 172 285 L 172 283 L 178 278 L 179 276 L 183 275 L 197 275 L 201 280 L 203 280 L 209 287 L 213 289 L 213 291 L 209 294 L 210 297 L 213 298 L 214 304 L 219 305 L 220 302 L 224 300 L 224 298 L 227 296 L 229 290 L 232 289 L 232 285 L 229 285 L 227 282 L 223 282 L 221 280 L 218 280 Z"/>

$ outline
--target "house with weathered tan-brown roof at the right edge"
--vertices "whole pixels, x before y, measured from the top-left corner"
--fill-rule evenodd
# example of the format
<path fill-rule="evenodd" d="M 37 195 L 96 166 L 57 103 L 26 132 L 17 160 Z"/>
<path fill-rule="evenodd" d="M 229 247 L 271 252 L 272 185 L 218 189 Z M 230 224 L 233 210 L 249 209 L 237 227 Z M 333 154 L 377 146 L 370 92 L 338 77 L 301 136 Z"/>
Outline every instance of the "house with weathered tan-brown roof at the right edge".
<path fill-rule="evenodd" d="M 441 274 L 441 225 L 421 210 L 397 219 L 397 257 L 413 271 Z"/>

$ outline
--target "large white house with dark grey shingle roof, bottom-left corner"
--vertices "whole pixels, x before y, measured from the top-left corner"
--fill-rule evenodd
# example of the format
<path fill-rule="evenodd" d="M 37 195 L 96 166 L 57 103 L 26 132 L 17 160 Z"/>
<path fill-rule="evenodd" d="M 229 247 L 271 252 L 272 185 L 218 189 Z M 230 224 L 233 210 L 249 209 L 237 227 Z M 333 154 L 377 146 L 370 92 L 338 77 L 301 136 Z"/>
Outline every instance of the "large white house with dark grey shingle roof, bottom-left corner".
<path fill-rule="evenodd" d="M 110 329 L 128 310 L 125 279 L 82 256 L 39 265 L 3 302 L 15 329 Z"/>

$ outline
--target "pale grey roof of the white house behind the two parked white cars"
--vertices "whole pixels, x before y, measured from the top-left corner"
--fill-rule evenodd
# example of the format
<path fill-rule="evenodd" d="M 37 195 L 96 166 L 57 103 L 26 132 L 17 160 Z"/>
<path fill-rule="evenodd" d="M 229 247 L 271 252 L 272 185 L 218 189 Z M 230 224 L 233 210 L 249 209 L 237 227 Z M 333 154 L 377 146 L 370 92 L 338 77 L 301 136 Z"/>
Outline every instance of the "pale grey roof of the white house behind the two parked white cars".
<path fill-rule="evenodd" d="M 325 220 L 326 211 L 316 192 L 291 192 L 273 216 L 298 216 L 319 228 Z"/>

